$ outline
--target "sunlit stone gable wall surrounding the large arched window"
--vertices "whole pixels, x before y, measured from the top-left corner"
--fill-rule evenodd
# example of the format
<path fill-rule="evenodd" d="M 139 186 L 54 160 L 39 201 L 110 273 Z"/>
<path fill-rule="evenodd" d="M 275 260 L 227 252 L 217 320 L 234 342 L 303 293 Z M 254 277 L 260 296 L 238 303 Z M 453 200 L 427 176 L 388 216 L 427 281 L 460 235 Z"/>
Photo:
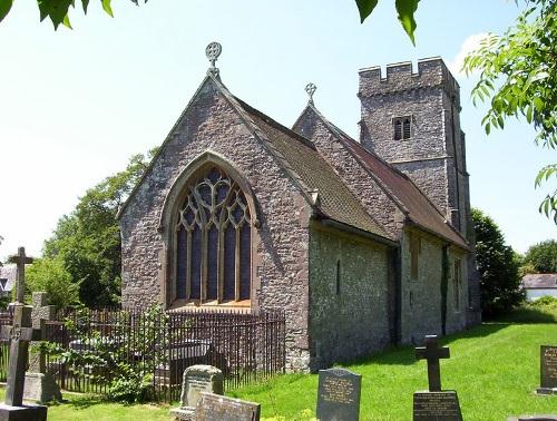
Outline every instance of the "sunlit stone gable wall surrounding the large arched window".
<path fill-rule="evenodd" d="M 123 304 L 170 304 L 166 244 L 172 231 L 157 231 L 160 213 L 174 180 L 207 149 L 243 174 L 255 196 L 261 228 L 253 249 L 252 309 L 285 311 L 286 369 L 307 370 L 307 204 L 211 81 L 178 120 L 120 217 Z"/>

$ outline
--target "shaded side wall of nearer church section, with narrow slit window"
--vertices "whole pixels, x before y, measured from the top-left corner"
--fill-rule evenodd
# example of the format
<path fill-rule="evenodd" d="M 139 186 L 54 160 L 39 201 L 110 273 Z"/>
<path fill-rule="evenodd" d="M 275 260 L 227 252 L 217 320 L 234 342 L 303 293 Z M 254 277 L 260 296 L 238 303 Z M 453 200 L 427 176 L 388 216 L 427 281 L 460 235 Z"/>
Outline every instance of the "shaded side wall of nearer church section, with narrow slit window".
<path fill-rule="evenodd" d="M 389 271 L 385 246 L 312 223 L 312 371 L 370 354 L 389 344 Z"/>

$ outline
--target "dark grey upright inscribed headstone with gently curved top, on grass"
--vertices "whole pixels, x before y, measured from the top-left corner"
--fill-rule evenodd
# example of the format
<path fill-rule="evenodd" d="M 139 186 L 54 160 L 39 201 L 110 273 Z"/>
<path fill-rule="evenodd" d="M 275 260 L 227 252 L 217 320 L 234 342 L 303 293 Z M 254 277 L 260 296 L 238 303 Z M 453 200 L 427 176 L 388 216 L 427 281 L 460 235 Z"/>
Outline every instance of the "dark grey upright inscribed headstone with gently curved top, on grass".
<path fill-rule="evenodd" d="M 358 421 L 362 376 L 344 369 L 319 371 L 317 419 Z"/>

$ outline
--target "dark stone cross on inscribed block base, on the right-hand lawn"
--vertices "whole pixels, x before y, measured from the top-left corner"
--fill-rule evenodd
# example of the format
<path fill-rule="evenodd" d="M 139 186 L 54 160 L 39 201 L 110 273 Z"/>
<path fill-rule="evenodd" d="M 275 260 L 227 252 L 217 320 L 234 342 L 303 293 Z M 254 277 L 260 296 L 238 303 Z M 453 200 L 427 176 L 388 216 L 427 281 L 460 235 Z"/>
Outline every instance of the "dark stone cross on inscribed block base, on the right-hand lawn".
<path fill-rule="evenodd" d="M 436 335 L 426 336 L 426 346 L 416 349 L 417 360 L 428 361 L 428 391 L 419 391 L 413 396 L 414 421 L 462 421 L 457 392 L 441 390 L 440 359 L 449 359 L 448 347 L 439 347 Z"/>

